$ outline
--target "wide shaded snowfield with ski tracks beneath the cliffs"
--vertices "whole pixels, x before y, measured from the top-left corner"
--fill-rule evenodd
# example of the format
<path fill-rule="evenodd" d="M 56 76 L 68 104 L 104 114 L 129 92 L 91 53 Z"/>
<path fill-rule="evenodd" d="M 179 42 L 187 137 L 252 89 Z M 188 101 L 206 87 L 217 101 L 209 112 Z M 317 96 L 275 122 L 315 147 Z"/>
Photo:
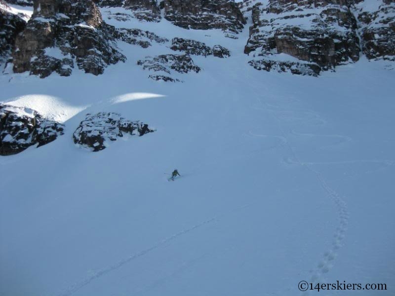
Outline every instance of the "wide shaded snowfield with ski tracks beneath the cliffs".
<path fill-rule="evenodd" d="M 121 25 L 231 57 L 192 56 L 200 73 L 157 82 L 136 62 L 176 53 L 169 43 L 119 43 L 127 61 L 103 75 L 0 75 L 1 101 L 66 125 L 0 157 L 1 296 L 395 295 L 393 64 L 268 73 L 242 53 L 248 24 L 237 40 Z M 73 132 L 99 111 L 156 132 L 77 148 Z M 302 280 L 387 290 L 300 292 Z"/>

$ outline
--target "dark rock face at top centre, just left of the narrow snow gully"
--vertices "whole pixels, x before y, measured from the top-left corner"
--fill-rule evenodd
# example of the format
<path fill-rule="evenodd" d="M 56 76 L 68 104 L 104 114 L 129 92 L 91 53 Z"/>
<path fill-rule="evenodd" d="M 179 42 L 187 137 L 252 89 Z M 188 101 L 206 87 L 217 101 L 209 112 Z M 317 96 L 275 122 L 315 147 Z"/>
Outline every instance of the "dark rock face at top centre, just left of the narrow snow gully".
<path fill-rule="evenodd" d="M 222 29 L 238 33 L 245 24 L 238 6 L 228 0 L 163 0 L 164 18 L 185 29 Z"/>

